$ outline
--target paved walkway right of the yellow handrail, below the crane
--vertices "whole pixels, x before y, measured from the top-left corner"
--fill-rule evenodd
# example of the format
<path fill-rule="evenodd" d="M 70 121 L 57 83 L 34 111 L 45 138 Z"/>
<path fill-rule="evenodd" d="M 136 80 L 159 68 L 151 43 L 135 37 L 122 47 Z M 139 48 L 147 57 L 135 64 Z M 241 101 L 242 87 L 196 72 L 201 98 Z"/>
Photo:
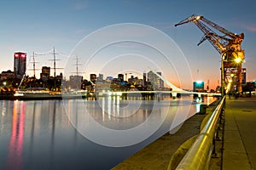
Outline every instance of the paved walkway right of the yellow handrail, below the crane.
<path fill-rule="evenodd" d="M 223 169 L 256 168 L 256 97 L 226 99 Z"/>

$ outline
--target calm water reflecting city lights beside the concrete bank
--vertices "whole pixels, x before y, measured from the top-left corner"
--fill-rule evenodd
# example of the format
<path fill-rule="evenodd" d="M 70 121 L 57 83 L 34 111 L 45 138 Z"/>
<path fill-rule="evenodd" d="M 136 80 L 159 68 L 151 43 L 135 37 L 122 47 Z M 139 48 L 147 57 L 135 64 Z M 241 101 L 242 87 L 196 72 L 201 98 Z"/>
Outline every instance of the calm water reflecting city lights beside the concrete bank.
<path fill-rule="evenodd" d="M 184 112 L 199 111 L 192 101 L 2 100 L 0 169 L 110 169 L 174 127 Z M 84 118 L 84 108 L 92 119 Z"/>

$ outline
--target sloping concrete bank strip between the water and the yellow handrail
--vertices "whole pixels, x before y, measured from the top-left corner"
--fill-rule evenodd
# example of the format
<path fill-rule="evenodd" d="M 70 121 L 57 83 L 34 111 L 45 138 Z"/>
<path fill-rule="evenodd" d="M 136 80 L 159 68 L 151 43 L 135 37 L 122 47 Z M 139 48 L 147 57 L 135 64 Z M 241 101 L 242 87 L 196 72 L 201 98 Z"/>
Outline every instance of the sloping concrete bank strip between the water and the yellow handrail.
<path fill-rule="evenodd" d="M 213 102 L 207 108 L 207 113 L 212 111 L 215 104 L 216 102 Z M 177 133 L 166 133 L 112 169 L 166 169 L 178 147 L 200 133 L 201 122 L 206 115 L 195 114 L 183 123 Z"/>

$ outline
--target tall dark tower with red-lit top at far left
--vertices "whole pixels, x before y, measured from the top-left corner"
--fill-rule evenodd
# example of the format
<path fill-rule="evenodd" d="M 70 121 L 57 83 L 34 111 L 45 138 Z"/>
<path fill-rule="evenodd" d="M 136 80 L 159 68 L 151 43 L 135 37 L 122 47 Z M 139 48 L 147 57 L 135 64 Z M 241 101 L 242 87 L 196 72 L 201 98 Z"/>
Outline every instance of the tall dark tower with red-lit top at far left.
<path fill-rule="evenodd" d="M 26 53 L 16 52 L 14 54 L 15 65 L 14 71 L 16 77 L 23 77 L 26 73 Z"/>

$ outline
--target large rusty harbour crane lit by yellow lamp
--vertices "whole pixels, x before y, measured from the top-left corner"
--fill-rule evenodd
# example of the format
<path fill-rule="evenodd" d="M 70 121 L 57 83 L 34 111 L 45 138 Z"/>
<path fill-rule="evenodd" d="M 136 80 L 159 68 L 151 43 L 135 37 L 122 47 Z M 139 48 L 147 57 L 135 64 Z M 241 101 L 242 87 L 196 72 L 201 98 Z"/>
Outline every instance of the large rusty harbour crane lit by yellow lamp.
<path fill-rule="evenodd" d="M 204 33 L 201 41 L 197 44 L 208 40 L 221 55 L 222 61 L 222 94 L 227 94 L 230 91 L 242 93 L 242 71 L 241 64 L 244 62 L 244 50 L 241 48 L 241 42 L 244 39 L 244 34 L 235 34 L 227 31 L 221 26 L 207 20 L 203 16 L 192 14 L 188 18 L 180 21 L 175 26 L 180 26 L 189 22 L 193 22 Z M 223 35 L 218 35 L 212 29 Z"/>

